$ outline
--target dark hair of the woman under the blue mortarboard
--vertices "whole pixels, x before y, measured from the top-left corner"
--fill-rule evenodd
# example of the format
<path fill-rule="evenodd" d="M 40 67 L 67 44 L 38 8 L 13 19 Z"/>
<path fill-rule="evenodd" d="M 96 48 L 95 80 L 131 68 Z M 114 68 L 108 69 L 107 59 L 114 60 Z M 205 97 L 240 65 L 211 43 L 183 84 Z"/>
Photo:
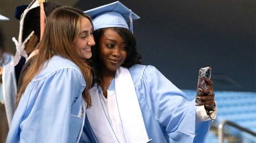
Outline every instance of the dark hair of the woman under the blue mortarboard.
<path fill-rule="evenodd" d="M 108 27 L 109 28 L 109 27 Z M 98 55 L 99 46 L 100 46 L 100 39 L 102 35 L 105 33 L 106 29 L 108 28 L 100 28 L 93 32 L 95 45 L 92 47 L 92 60 L 93 60 L 93 67 L 94 72 L 96 73 L 96 77 L 101 77 L 101 61 L 100 61 L 100 55 Z M 117 32 L 123 40 L 125 40 L 127 44 L 127 57 L 125 59 L 125 62 L 121 65 L 122 67 L 130 68 L 134 64 L 141 64 L 142 63 L 142 55 L 138 53 L 137 51 L 137 45 L 136 45 L 136 39 L 128 29 L 122 28 L 122 27 L 110 27 L 115 32 Z"/>

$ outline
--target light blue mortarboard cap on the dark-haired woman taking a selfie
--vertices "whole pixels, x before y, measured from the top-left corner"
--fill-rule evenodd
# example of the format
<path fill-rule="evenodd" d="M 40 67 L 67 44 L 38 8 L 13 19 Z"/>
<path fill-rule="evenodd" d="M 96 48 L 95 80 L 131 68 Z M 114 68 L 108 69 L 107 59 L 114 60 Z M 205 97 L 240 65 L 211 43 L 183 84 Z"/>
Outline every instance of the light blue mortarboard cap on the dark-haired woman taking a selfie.
<path fill-rule="evenodd" d="M 133 20 L 139 19 L 137 14 L 119 1 L 93 8 L 85 11 L 85 13 L 92 17 L 94 30 L 106 27 L 122 27 L 133 32 Z M 127 23 L 130 24 L 130 28 Z"/>

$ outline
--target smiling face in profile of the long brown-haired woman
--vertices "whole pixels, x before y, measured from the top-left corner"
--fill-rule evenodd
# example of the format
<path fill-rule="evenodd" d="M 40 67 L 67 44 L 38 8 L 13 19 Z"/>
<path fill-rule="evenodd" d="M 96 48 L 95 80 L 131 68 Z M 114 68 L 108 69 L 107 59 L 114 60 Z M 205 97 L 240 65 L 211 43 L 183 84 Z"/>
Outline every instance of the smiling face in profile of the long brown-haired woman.
<path fill-rule="evenodd" d="M 80 32 L 75 41 L 75 50 L 81 59 L 92 57 L 91 46 L 95 45 L 93 38 L 93 28 L 89 19 L 82 17 L 80 20 Z"/>

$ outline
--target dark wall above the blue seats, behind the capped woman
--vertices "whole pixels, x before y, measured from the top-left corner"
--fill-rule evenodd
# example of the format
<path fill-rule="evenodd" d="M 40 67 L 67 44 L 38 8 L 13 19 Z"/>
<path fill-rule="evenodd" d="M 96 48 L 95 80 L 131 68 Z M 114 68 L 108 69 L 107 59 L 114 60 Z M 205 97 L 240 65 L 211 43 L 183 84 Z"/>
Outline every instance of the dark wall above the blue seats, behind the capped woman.
<path fill-rule="evenodd" d="M 111 2 L 80 0 L 75 7 Z M 143 64 L 180 89 L 196 89 L 199 69 L 210 66 L 214 90 L 256 92 L 254 0 L 120 2 L 141 16 L 134 35 Z"/>

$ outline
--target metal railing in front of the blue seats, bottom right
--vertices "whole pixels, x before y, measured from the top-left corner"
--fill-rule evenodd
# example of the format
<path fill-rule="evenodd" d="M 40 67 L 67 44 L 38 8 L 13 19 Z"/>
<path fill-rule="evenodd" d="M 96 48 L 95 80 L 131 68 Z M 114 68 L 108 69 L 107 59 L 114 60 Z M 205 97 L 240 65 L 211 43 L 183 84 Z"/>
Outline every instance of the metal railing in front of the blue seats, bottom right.
<path fill-rule="evenodd" d="M 241 127 L 240 125 L 230 122 L 228 120 L 224 120 L 220 125 L 218 125 L 218 143 L 223 143 L 224 142 L 224 126 L 228 124 L 234 128 L 239 129 L 240 131 L 249 133 L 250 135 L 256 136 L 256 133 L 251 131 L 250 129 Z"/>

